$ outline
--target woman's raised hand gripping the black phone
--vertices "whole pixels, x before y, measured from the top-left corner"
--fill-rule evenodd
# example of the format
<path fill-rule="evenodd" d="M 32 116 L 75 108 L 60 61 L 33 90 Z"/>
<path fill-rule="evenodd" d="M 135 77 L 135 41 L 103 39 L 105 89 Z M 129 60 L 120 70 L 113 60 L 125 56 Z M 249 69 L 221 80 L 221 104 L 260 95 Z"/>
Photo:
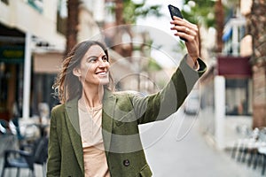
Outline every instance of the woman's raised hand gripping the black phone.
<path fill-rule="evenodd" d="M 193 63 L 197 62 L 197 58 L 200 57 L 200 47 L 199 47 L 199 29 L 195 24 L 191 22 L 180 19 L 174 16 L 174 20 L 170 21 L 174 27 L 171 30 L 176 30 L 176 36 L 185 39 L 185 46 L 188 51 L 188 55 L 192 58 Z"/>

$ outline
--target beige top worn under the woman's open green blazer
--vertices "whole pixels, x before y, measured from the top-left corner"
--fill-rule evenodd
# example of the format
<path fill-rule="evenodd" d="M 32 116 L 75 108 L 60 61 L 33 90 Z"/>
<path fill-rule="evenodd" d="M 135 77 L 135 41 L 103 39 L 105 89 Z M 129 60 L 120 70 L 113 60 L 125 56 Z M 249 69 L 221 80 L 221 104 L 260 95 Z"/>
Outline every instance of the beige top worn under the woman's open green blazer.
<path fill-rule="evenodd" d="M 85 177 L 110 177 L 102 135 L 102 105 L 78 102 Z"/>

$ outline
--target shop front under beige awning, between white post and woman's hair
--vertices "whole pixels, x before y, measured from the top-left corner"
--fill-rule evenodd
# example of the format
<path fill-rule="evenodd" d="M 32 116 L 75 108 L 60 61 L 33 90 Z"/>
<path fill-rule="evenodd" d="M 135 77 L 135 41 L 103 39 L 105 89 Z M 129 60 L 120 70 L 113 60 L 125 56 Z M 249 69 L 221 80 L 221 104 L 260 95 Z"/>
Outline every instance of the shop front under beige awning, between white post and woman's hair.
<path fill-rule="evenodd" d="M 31 100 L 32 116 L 41 116 L 42 106 L 46 106 L 48 112 L 59 104 L 59 99 L 54 95 L 52 85 L 56 80 L 62 65 L 63 53 L 46 51 L 33 53 L 33 90 Z M 49 113 L 45 117 L 50 117 Z"/>

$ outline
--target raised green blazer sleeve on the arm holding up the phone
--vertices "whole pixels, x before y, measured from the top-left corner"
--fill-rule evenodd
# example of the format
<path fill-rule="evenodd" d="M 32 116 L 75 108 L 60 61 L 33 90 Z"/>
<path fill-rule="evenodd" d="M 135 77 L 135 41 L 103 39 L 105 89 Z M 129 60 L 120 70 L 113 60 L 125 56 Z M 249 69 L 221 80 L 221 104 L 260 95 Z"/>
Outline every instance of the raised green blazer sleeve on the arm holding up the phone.
<path fill-rule="evenodd" d="M 207 66 L 200 58 L 198 62 L 200 69 L 195 71 L 187 65 L 185 56 L 164 89 L 151 96 L 131 97 L 138 124 L 166 119 L 178 110 L 194 84 L 207 70 Z"/>

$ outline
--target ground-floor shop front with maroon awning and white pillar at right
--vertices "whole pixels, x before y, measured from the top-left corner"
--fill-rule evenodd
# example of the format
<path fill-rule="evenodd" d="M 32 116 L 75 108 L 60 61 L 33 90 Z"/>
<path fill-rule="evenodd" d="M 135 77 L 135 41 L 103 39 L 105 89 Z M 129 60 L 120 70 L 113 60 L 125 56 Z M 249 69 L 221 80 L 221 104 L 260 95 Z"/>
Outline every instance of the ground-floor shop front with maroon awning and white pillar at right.
<path fill-rule="evenodd" d="M 252 127 L 252 78 L 249 58 L 217 58 L 202 80 L 200 124 L 219 149 L 230 148 L 239 128 Z"/>

